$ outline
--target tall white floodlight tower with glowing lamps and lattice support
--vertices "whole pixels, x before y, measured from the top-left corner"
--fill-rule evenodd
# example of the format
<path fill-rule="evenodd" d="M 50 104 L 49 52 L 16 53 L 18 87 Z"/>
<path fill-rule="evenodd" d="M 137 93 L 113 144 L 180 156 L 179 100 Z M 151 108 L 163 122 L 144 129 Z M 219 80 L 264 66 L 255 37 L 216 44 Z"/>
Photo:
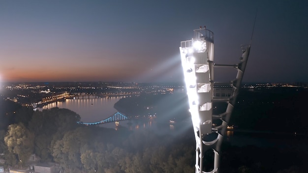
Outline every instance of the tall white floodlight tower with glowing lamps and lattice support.
<path fill-rule="evenodd" d="M 196 139 L 195 173 L 218 173 L 219 171 L 221 143 L 241 87 L 249 51 L 250 45 L 242 46 L 243 55 L 238 64 L 215 64 L 214 33 L 205 27 L 195 29 L 191 40 L 181 42 L 181 61 Z M 236 79 L 228 82 L 214 82 L 214 67 L 236 69 L 238 71 Z M 227 89 L 219 89 L 222 86 Z M 213 115 L 213 102 L 225 102 L 227 105 L 225 112 Z M 213 120 L 219 120 L 221 123 L 215 125 Z M 204 154 L 208 150 L 214 152 L 212 171 L 208 171 L 204 164 Z"/>

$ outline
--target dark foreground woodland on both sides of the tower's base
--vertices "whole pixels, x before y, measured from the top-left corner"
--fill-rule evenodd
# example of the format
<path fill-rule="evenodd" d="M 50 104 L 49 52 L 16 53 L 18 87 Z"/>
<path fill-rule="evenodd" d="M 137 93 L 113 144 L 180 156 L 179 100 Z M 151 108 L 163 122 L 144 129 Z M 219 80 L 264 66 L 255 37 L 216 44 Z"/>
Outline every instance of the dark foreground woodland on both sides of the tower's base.
<path fill-rule="evenodd" d="M 35 153 L 41 162 L 56 162 L 72 173 L 193 173 L 195 170 L 192 128 L 177 135 L 130 131 L 124 127 L 116 131 L 78 125 L 79 115 L 67 109 L 33 112 L 30 108 L 8 108 L 13 111 L 10 119 L 14 123 L 0 131 L 0 153 L 4 153 L 5 167 L 25 165 Z M 1 111 L 3 116 L 7 115 Z M 228 143 L 222 146 L 221 173 L 305 173 L 308 163 L 303 148 L 238 147 Z M 206 163 L 212 161 L 212 154 L 206 154 Z M 206 166 L 207 171 L 213 167 Z"/>

